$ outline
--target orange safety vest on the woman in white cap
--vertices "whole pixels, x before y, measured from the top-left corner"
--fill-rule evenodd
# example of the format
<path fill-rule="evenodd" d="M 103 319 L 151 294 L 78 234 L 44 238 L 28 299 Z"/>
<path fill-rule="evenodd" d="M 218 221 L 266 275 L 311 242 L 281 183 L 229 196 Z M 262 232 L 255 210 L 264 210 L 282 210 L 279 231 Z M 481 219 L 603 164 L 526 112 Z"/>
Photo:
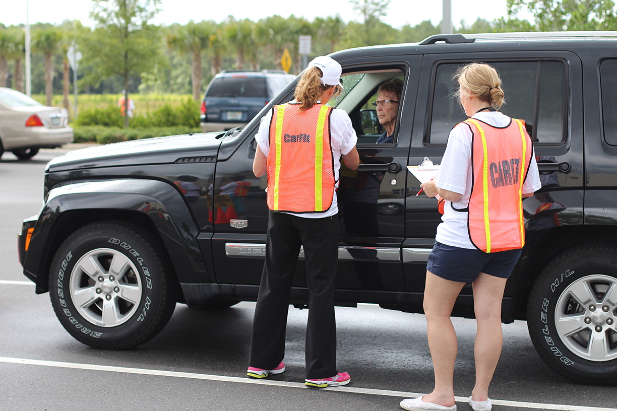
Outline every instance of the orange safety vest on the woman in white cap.
<path fill-rule="evenodd" d="M 334 197 L 334 156 L 330 114 L 324 104 L 299 111 L 275 105 L 270 121 L 268 208 L 288 213 L 321 213 Z"/>

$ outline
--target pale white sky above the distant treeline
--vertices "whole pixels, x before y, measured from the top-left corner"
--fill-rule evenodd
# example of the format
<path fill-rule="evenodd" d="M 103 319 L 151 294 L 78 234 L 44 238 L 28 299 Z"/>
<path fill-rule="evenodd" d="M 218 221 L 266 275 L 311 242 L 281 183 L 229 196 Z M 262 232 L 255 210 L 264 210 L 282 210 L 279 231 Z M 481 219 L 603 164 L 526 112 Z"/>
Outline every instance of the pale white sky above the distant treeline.
<path fill-rule="evenodd" d="M 460 26 L 461 20 L 465 20 L 466 25 L 471 25 L 478 17 L 491 22 L 506 14 L 506 1 L 451 0 L 453 25 Z M 4 5 L 0 11 L 0 23 L 7 26 L 25 24 L 27 14 L 30 24 L 38 22 L 56 24 L 65 18 L 80 20 L 85 26 L 94 24 L 88 17 L 91 5 L 89 0 L 2 0 L 2 2 Z M 28 13 L 26 3 L 28 3 Z M 347 0 L 330 0 L 323 4 L 310 1 L 266 3 L 255 0 L 162 0 L 159 7 L 161 11 L 152 21 L 158 25 L 172 23 L 184 25 L 191 19 L 196 22 L 201 20 L 222 22 L 228 15 L 233 15 L 237 20 L 250 18 L 257 21 L 274 14 L 283 17 L 294 14 L 296 17 L 304 16 L 312 21 L 315 17 L 334 16 L 338 13 L 345 22 L 362 21 L 362 18 L 354 14 Z M 423 20 L 431 20 L 433 25 L 437 25 L 441 22 L 441 18 L 442 2 L 439 0 L 390 0 L 387 15 L 382 21 L 394 28 L 400 28 L 407 23 L 415 26 Z"/>

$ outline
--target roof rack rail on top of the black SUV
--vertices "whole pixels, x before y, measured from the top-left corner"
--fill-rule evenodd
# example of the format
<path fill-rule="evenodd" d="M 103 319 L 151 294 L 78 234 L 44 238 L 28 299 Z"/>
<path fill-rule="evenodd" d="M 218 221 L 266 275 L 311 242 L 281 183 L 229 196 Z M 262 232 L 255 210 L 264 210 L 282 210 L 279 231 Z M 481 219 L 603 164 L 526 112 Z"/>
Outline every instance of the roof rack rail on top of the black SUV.
<path fill-rule="evenodd" d="M 478 33 L 434 35 L 420 44 L 435 44 L 443 41 L 447 44 L 474 43 L 476 40 L 505 40 L 523 38 L 573 38 L 573 37 L 617 37 L 617 31 L 528 31 L 525 33 Z"/>

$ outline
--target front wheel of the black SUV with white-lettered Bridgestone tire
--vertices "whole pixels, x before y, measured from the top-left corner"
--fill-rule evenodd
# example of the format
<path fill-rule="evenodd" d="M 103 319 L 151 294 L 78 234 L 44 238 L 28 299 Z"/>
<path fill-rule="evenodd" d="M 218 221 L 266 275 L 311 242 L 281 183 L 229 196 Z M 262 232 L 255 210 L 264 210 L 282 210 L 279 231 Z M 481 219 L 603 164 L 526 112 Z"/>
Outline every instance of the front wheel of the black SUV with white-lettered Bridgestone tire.
<path fill-rule="evenodd" d="M 57 250 L 49 294 L 60 323 L 81 343 L 126 349 L 172 317 L 178 283 L 160 241 L 126 222 L 81 227 Z"/>

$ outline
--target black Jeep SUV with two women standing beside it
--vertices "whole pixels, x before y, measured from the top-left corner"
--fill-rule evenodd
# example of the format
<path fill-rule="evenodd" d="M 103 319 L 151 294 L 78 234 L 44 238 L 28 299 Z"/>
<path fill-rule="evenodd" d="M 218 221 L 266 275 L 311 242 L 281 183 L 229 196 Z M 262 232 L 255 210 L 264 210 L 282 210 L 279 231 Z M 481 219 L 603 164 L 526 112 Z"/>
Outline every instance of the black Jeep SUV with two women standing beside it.
<path fill-rule="evenodd" d="M 345 89 L 331 104 L 352 118 L 362 160 L 341 170 L 337 192 L 337 304 L 423 312 L 441 216 L 434 198 L 416 197 L 420 182 L 407 166 L 425 156 L 441 163 L 448 132 L 465 120 L 452 74 L 487 62 L 503 80 L 502 111 L 528 124 L 543 184 L 523 201 L 526 245 L 502 320 L 527 320 L 540 356 L 561 375 L 617 383 L 616 56 L 617 33 L 602 32 L 442 35 L 332 54 Z M 376 144 L 370 103 L 392 78 L 404 81 L 394 142 Z M 128 348 L 155 336 L 176 301 L 255 301 L 268 213 L 267 179 L 252 174 L 254 136 L 293 87 L 241 131 L 122 142 L 49 163 L 44 206 L 23 222 L 19 258 L 72 336 Z M 346 213 L 375 184 L 375 212 Z M 293 285 L 291 303 L 304 307 L 302 254 Z M 470 284 L 453 315 L 473 317 Z"/>

